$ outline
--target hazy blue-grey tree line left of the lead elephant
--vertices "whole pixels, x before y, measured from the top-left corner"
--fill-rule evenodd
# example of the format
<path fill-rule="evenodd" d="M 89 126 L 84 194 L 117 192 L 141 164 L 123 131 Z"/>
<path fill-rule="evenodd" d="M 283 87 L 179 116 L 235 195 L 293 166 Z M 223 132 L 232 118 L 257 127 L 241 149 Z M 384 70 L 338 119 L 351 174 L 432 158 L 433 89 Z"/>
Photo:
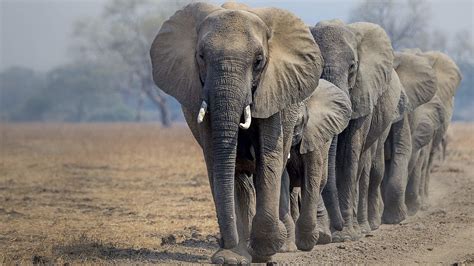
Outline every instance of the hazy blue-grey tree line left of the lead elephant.
<path fill-rule="evenodd" d="M 189 2 L 109 0 L 100 16 L 74 25 L 70 63 L 0 73 L 0 120 L 183 120 L 178 103 L 153 83 L 149 49 L 161 24 Z"/>

